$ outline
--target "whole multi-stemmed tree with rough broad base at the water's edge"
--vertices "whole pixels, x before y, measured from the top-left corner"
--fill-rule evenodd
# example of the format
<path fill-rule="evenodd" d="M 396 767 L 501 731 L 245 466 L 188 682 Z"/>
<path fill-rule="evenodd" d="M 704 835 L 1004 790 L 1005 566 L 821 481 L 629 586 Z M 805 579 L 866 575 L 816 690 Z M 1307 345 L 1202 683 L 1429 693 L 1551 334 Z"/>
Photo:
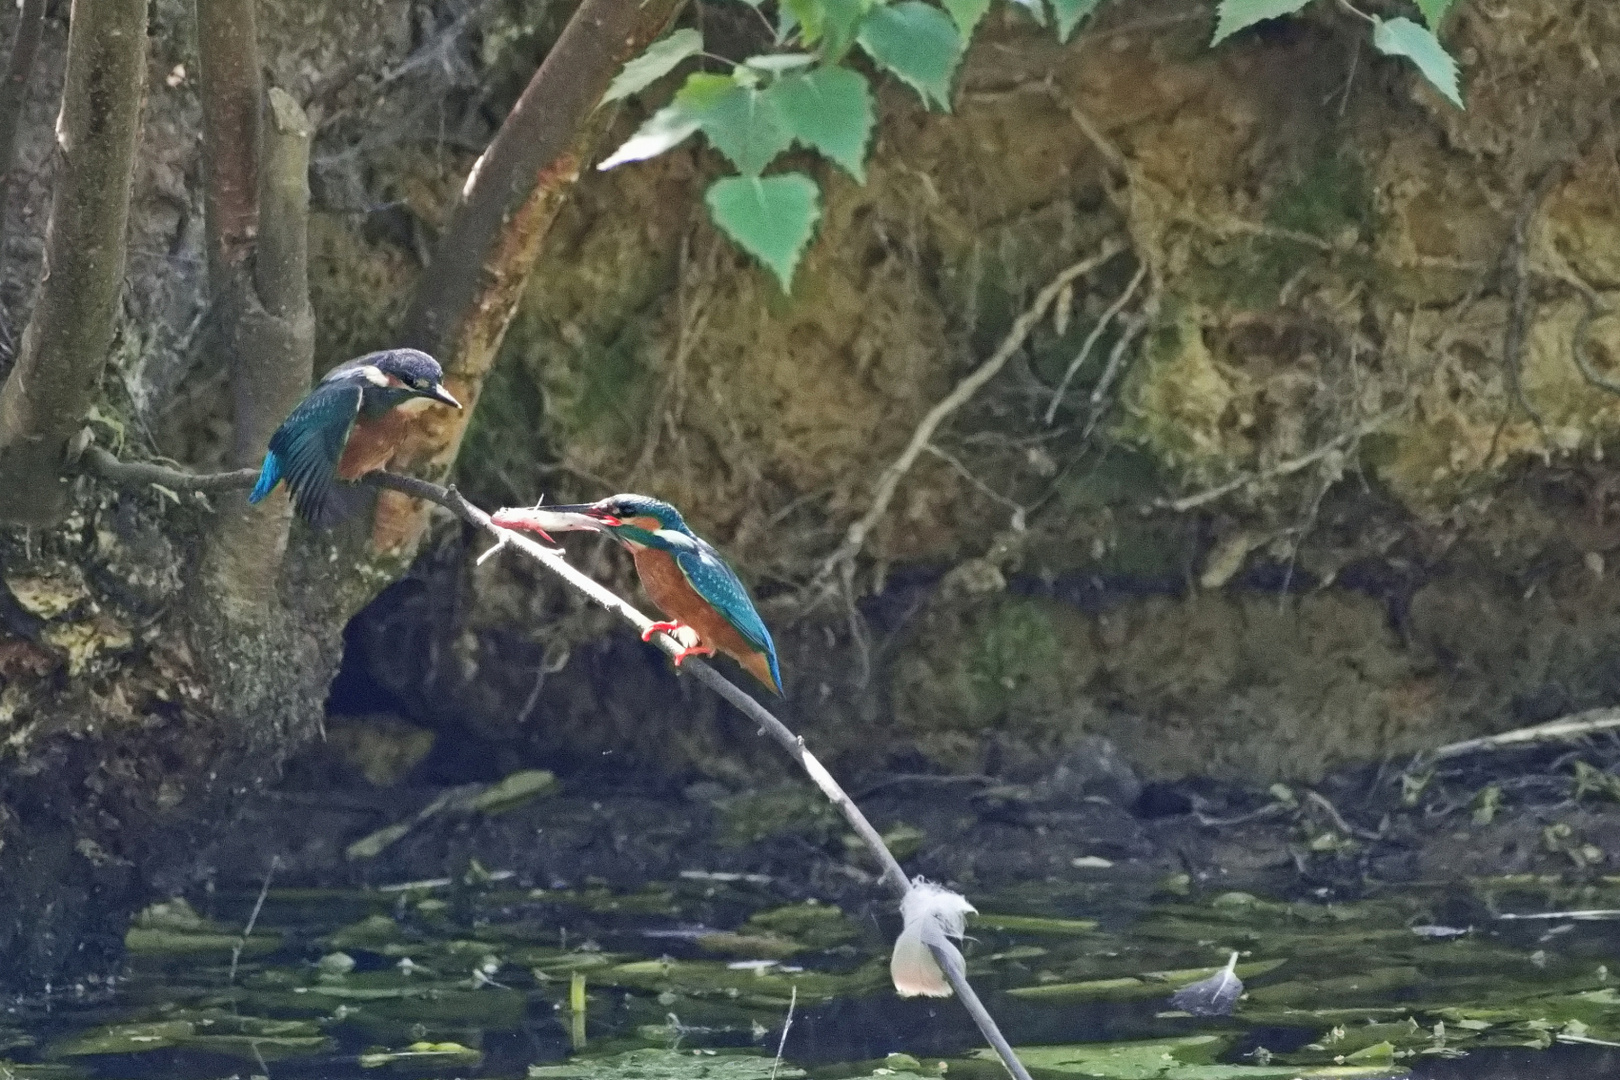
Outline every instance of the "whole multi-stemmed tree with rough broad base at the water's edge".
<path fill-rule="evenodd" d="M 585 0 L 468 186 L 429 272 L 444 293 L 429 290 L 416 308 L 446 316 L 429 319 L 449 343 L 434 348 L 468 402 L 539 236 L 606 125 L 593 115 L 603 89 L 676 3 Z M 232 372 L 228 458 L 251 468 L 311 374 L 309 126 L 290 97 L 261 89 L 251 2 L 196 5 L 206 325 Z M 343 625 L 405 567 L 368 549 L 371 521 L 288 538 L 285 502 L 249 508 L 240 489 L 159 497 L 86 478 L 65 502 L 63 450 L 97 402 L 117 314 L 146 3 L 78 0 L 73 15 L 50 277 L 0 397 L 0 523 L 73 510 L 71 526 L 0 531 L 6 580 L 76 597 L 29 612 L 37 648 L 21 656 L 34 667 L 0 670 L 0 984 L 10 988 L 113 962 L 128 913 L 154 897 L 152 873 L 173 887 L 175 868 L 235 800 L 318 730 Z M 92 126 L 97 141 L 84 147 Z M 428 439 L 421 460 L 447 461 L 458 440 L 457 423 Z M 83 461 L 94 470 L 104 457 L 92 447 Z M 395 517 L 415 539 L 415 508 Z"/>

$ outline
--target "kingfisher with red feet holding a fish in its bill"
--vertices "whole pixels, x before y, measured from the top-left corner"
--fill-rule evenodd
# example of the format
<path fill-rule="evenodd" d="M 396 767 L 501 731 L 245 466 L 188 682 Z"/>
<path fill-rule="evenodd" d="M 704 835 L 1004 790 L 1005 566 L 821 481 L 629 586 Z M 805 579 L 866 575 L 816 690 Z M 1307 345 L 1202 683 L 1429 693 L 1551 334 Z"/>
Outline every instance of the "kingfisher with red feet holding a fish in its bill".
<path fill-rule="evenodd" d="M 642 635 L 642 641 L 650 641 L 658 631 L 674 635 L 688 630 L 697 635 L 697 644 L 676 654 L 677 665 L 688 656 L 713 656 L 719 649 L 773 693 L 782 693 L 776 644 L 760 612 L 753 609 L 748 589 L 719 552 L 692 533 L 680 512 L 667 502 L 646 495 L 612 495 L 572 507 L 501 510 L 491 520 L 541 536 L 546 534 L 544 529 L 611 534 L 630 549 L 642 588 L 674 620 L 654 622 Z"/>

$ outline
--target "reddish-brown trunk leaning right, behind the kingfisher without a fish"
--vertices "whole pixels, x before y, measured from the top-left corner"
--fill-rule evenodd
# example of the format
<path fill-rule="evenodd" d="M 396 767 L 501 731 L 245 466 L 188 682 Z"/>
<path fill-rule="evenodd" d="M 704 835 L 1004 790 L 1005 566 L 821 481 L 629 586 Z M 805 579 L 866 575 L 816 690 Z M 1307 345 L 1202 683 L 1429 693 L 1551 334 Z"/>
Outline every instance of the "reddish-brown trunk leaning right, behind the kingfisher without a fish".
<path fill-rule="evenodd" d="M 583 0 L 467 180 L 405 314 L 403 343 L 437 356 L 465 410 L 439 410 L 395 465 L 441 478 L 455 463 L 484 376 L 562 201 L 611 120 L 598 110 L 624 62 L 653 42 L 682 0 Z M 408 549 L 426 507 L 384 492 L 373 547 Z"/>

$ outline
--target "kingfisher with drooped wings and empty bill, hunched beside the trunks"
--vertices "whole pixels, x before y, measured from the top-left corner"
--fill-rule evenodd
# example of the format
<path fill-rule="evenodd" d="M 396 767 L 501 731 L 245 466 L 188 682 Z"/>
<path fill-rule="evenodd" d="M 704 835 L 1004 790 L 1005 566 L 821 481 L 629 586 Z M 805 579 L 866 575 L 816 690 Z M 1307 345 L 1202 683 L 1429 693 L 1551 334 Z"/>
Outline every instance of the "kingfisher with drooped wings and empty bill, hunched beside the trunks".
<path fill-rule="evenodd" d="M 431 402 L 462 408 L 442 384 L 439 361 L 415 348 L 339 364 L 271 436 L 248 502 L 259 502 L 285 479 L 306 521 L 337 525 L 356 505 L 353 486 L 342 481 L 387 465 L 420 408 Z"/>

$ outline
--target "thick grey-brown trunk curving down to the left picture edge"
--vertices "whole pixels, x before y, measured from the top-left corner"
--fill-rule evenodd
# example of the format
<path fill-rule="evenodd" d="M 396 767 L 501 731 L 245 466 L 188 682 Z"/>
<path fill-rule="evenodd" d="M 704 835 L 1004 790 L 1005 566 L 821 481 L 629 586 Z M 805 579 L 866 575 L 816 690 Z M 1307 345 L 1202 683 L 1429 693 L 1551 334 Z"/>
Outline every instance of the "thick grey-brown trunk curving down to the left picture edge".
<path fill-rule="evenodd" d="M 73 2 L 45 277 L 0 389 L 0 521 L 49 526 L 66 513 L 63 455 L 96 400 L 123 290 L 146 3 Z"/>

